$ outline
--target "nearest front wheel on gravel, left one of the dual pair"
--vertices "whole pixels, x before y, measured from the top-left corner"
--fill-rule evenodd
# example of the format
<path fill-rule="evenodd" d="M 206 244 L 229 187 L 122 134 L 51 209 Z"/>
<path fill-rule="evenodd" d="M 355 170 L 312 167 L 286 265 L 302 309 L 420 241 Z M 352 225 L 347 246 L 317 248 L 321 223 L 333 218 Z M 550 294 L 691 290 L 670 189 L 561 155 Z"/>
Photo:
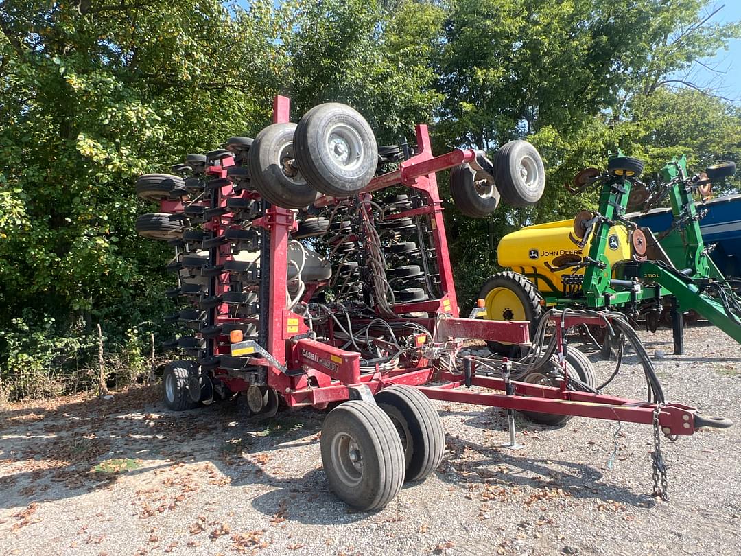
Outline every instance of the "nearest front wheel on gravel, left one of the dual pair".
<path fill-rule="evenodd" d="M 330 488 L 349 506 L 379 509 L 401 490 L 405 476 L 402 441 L 379 406 L 356 400 L 340 404 L 325 417 L 320 445 Z M 351 456 L 360 458 L 360 469 Z"/>

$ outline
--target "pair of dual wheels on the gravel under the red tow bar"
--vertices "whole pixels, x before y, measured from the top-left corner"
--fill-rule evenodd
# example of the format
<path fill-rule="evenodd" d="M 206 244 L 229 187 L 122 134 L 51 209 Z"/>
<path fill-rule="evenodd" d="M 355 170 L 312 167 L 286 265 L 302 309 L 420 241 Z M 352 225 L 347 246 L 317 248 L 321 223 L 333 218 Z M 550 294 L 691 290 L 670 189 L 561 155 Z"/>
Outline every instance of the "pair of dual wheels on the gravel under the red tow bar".
<path fill-rule="evenodd" d="M 405 482 L 424 480 L 442 462 L 445 432 L 430 400 L 394 385 L 376 403 L 334 408 L 322 426 L 322 463 L 337 497 L 359 510 L 382 508 Z"/>

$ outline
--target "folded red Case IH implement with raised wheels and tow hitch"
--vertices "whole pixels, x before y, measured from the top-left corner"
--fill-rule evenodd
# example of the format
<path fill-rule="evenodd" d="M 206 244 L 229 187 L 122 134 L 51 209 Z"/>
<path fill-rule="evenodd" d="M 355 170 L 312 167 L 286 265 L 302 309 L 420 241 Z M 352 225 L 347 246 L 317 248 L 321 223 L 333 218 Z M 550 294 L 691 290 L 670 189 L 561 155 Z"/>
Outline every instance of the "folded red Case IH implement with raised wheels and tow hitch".
<path fill-rule="evenodd" d="M 544 186 L 532 145 L 508 143 L 494 162 L 475 150 L 433 156 L 425 125 L 416 148 L 377 147 L 344 105 L 314 107 L 298 125 L 288 99 L 273 108 L 273 125 L 254 140 L 233 137 L 188 155 L 176 175 L 137 182 L 160 205 L 137 230 L 175 247 L 170 294 L 185 304 L 170 320 L 190 331 L 165 345 L 185 354 L 163 369 L 169 408 L 237 393 L 262 415 L 340 403 L 322 427 L 322 460 L 333 491 L 359 509 L 384 506 L 405 480 L 439 466 L 444 433 L 430 399 L 510 410 L 513 445 L 512 411 L 547 424 L 645 423 L 657 438 L 730 425 L 664 403 L 622 315 L 551 312 L 536 330 L 475 318 L 483 309 L 460 317 L 436 172 L 451 169 L 468 216 L 491 213 L 500 196 L 532 204 Z M 563 331 L 579 323 L 625 329 L 645 356 L 648 401 L 596 390 L 589 361 L 565 345 Z M 464 347 L 470 340 L 529 346 L 529 355 L 479 357 Z M 654 466 L 664 471 L 658 446 Z"/>

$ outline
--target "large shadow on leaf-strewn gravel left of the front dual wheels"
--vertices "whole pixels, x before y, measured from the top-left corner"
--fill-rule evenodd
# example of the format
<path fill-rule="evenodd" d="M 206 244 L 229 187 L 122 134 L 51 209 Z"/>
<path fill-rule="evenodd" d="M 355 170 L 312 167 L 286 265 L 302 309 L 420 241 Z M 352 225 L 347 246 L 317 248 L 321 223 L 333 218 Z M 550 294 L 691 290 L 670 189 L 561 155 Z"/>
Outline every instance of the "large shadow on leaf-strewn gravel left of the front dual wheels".
<path fill-rule="evenodd" d="M 179 463 L 212 463 L 227 477 L 227 487 L 275 486 L 276 499 L 288 497 L 290 489 L 309 489 L 330 500 L 319 469 L 283 478 L 260 465 L 270 451 L 318 443 L 319 411 L 282 411 L 266 420 L 246 417 L 239 401 L 176 412 L 159 399 L 157 385 L 139 386 L 113 400 L 79 396 L 0 411 L 0 509 L 106 489 L 119 474 L 101 472 L 99 464 L 111 460 L 133 460 L 126 477 Z M 256 507 L 277 511 L 267 503 Z"/>

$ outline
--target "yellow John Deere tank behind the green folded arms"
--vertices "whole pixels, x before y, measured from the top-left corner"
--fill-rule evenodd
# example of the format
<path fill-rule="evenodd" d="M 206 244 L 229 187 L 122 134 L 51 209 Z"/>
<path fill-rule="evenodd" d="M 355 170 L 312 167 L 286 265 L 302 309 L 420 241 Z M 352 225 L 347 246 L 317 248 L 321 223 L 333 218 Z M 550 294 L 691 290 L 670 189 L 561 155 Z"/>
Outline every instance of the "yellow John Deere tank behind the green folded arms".
<path fill-rule="evenodd" d="M 574 236 L 574 219 L 560 220 L 527 226 L 507 234 L 499 240 L 496 258 L 499 265 L 525 274 L 542 293 L 562 291 L 561 277 L 570 274 L 584 274 L 584 268 L 572 273 L 571 268 L 556 271 L 554 268 L 566 262 L 581 261 L 589 254 L 591 237 L 583 248 Z M 631 258 L 631 245 L 628 231 L 623 226 L 610 228 L 605 255 L 614 263 Z"/>

